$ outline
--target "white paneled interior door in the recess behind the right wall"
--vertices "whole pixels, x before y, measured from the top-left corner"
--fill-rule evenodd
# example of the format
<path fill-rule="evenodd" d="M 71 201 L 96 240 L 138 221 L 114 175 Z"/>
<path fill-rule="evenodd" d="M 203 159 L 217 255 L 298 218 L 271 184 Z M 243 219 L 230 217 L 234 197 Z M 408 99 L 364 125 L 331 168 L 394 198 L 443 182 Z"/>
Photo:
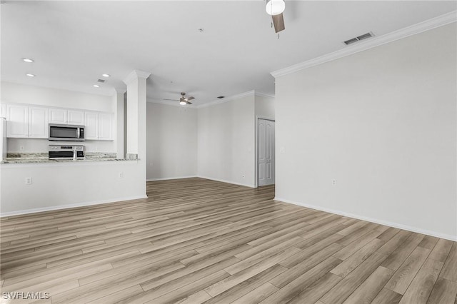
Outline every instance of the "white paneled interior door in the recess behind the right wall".
<path fill-rule="evenodd" d="M 257 121 L 258 186 L 274 183 L 274 121 Z"/>

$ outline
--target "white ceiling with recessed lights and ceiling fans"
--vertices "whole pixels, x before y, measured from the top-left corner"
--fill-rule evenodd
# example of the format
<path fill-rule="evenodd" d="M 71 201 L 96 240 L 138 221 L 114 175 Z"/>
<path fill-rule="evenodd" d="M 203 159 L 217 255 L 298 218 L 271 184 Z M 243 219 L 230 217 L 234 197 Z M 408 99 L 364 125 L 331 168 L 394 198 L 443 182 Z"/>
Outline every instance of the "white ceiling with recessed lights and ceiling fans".
<path fill-rule="evenodd" d="M 185 91 L 196 105 L 274 94 L 271 71 L 457 9 L 456 1 L 286 1 L 278 39 L 262 0 L 3 2 L 2 80 L 112 95 L 139 69 L 151 73 L 149 101 Z M 111 78 L 94 88 L 104 73 Z"/>

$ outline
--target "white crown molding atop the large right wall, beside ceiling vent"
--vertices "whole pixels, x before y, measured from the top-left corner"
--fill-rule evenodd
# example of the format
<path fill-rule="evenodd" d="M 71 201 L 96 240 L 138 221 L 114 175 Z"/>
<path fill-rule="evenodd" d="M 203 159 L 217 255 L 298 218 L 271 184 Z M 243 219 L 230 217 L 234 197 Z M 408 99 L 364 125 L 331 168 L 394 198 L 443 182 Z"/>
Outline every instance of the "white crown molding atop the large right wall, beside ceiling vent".
<path fill-rule="evenodd" d="M 277 71 L 271 72 L 271 76 L 274 78 L 285 76 L 287 74 L 295 73 L 296 71 L 301 71 L 303 69 L 311 68 L 311 66 L 317 66 L 319 64 L 325 64 L 328 61 L 333 61 L 340 59 L 352 54 L 356 54 L 361 51 L 366 51 L 372 49 L 376 46 L 381 46 L 383 44 L 388 44 L 389 42 L 396 41 L 398 39 L 403 39 L 408 36 L 413 36 L 423 31 L 428 31 L 431 29 L 436 29 L 440 26 L 445 26 L 446 24 L 451 24 L 457 21 L 457 11 L 451 11 L 447 14 L 443 14 L 433 19 L 428 19 L 426 21 L 420 22 L 418 24 L 413 24 L 412 26 L 407 26 L 406 28 L 399 29 L 398 31 L 393 31 L 391 33 L 385 34 L 383 36 L 375 36 L 372 39 L 367 39 L 366 41 L 361 41 L 358 44 L 353 44 L 347 46 L 344 49 L 334 51 L 315 59 L 301 62 L 300 64 L 294 64 L 293 66 L 288 66 L 287 68 L 280 69 Z"/>

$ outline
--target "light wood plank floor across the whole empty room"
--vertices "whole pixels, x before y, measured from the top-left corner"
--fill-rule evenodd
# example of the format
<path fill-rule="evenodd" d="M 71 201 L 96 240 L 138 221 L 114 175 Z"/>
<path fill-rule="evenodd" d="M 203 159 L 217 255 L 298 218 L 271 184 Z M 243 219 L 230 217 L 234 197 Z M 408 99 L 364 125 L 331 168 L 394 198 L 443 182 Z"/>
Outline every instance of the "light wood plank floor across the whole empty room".
<path fill-rule="evenodd" d="M 49 292 L 42 303 L 457 304 L 456 242 L 273 201 L 272 186 L 147 189 L 2 218 L 1 290 Z"/>

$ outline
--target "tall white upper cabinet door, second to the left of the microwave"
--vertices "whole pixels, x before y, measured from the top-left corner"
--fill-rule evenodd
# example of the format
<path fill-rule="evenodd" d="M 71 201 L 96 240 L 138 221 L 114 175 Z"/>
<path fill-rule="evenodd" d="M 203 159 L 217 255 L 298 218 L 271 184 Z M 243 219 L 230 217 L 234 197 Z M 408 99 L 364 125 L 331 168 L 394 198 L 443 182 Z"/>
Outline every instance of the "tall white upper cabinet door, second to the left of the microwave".
<path fill-rule="evenodd" d="M 29 107 L 6 105 L 6 137 L 29 137 Z"/>

